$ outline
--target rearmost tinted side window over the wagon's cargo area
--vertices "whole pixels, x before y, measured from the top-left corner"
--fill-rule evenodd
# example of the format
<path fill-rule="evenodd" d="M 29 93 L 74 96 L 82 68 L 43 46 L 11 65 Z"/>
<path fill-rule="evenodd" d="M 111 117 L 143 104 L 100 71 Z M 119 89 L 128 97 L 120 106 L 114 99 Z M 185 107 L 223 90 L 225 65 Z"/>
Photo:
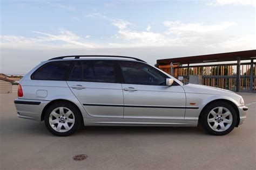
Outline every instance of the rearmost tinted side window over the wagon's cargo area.
<path fill-rule="evenodd" d="M 33 80 L 64 80 L 71 61 L 50 62 L 40 67 L 32 76 Z"/>

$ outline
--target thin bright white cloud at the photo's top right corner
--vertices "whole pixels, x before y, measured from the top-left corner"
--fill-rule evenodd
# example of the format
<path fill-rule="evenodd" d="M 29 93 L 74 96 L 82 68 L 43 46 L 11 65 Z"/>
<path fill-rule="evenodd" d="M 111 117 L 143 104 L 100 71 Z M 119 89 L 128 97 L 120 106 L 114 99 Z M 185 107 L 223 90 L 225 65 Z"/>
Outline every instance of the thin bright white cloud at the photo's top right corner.
<path fill-rule="evenodd" d="M 256 6 L 255 0 L 215 0 L 211 2 L 209 5 L 248 5 L 248 6 Z"/>

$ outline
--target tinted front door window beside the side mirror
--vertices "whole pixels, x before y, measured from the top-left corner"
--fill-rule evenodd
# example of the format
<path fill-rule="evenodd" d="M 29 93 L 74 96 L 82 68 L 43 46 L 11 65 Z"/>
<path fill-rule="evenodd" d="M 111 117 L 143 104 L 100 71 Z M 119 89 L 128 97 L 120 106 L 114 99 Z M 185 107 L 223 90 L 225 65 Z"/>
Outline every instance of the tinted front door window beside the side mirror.
<path fill-rule="evenodd" d="M 166 77 L 156 69 L 139 62 L 120 61 L 127 84 L 165 86 Z"/>

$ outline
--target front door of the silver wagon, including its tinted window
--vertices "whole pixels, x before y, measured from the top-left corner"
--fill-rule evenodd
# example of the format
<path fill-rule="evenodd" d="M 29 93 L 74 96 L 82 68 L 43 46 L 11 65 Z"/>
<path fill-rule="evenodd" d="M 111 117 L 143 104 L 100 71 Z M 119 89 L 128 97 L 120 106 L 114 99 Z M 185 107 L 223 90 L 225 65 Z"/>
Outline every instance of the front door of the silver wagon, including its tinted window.
<path fill-rule="evenodd" d="M 166 86 L 166 75 L 142 62 L 120 61 L 124 76 L 124 118 L 184 119 L 186 97 L 176 82 Z"/>

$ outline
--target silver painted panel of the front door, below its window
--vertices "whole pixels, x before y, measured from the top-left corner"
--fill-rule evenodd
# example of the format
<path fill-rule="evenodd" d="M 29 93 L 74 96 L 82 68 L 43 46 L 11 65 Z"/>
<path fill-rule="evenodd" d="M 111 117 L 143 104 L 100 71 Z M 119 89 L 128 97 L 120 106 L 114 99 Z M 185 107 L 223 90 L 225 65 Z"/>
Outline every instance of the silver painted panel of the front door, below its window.
<path fill-rule="evenodd" d="M 145 86 L 122 84 L 123 89 L 132 87 L 137 91 L 124 90 L 125 105 L 145 107 L 184 107 L 184 108 L 124 108 L 124 118 L 176 119 L 183 120 L 186 97 L 181 86 Z"/>

